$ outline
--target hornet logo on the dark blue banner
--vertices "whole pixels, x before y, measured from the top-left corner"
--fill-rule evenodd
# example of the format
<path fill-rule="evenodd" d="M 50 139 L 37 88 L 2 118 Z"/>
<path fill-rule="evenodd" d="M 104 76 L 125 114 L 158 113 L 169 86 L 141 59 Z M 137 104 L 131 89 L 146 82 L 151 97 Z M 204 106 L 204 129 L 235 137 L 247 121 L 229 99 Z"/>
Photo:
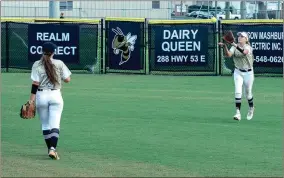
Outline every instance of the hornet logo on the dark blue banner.
<path fill-rule="evenodd" d="M 112 49 L 116 55 L 121 52 L 119 65 L 122 65 L 129 60 L 131 51 L 134 51 L 134 44 L 137 39 L 137 35 L 131 36 L 131 33 L 128 33 L 125 36 L 119 27 L 112 29 L 112 31 L 115 33 L 112 40 Z"/>

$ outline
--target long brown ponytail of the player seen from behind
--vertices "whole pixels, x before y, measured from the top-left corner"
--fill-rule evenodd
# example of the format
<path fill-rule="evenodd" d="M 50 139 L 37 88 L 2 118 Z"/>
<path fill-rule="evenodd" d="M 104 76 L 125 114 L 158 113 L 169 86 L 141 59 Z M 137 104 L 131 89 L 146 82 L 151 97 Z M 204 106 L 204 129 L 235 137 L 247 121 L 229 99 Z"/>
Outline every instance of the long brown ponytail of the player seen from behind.
<path fill-rule="evenodd" d="M 58 83 L 57 74 L 56 74 L 55 66 L 52 64 L 52 61 L 51 61 L 51 54 L 43 54 L 42 62 L 43 62 L 44 69 L 45 69 L 45 72 L 47 74 L 49 81 L 53 85 L 57 84 Z"/>

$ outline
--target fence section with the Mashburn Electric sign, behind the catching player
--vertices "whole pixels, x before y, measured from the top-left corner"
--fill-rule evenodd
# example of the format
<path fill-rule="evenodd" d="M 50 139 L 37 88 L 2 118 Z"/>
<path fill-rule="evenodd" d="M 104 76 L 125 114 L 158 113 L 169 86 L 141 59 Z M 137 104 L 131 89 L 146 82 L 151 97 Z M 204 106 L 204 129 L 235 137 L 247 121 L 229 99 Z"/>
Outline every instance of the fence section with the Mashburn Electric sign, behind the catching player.
<path fill-rule="evenodd" d="M 254 55 L 254 73 L 256 75 L 283 74 L 283 24 L 272 21 L 262 22 L 223 22 L 220 25 L 219 41 L 228 31 L 232 31 L 237 40 L 237 32 L 245 31 Z M 230 45 L 228 48 L 230 49 Z M 233 60 L 220 54 L 221 75 L 228 75 L 234 70 Z"/>

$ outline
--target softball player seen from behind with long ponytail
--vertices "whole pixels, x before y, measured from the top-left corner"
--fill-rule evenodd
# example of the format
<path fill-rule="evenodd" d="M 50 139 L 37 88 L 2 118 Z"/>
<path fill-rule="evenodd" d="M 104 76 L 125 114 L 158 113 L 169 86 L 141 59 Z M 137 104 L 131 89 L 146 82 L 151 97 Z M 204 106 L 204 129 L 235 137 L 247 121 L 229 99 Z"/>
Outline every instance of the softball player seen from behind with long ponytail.
<path fill-rule="evenodd" d="M 71 72 L 61 61 L 53 59 L 56 45 L 46 42 L 42 46 L 43 56 L 32 66 L 32 89 L 30 101 L 35 102 L 41 121 L 48 155 L 58 160 L 56 146 L 59 138 L 60 119 L 63 111 L 61 95 L 62 80 L 70 82 Z"/>

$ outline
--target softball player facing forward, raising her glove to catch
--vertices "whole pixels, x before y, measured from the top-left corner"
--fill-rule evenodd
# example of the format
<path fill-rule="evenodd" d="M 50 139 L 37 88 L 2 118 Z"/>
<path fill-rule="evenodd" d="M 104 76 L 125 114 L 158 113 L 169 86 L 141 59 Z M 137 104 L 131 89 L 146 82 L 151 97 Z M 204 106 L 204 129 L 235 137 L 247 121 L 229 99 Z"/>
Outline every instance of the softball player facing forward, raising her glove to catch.
<path fill-rule="evenodd" d="M 245 95 L 248 100 L 249 110 L 247 113 L 247 120 L 251 120 L 254 114 L 252 86 L 254 82 L 253 71 L 253 52 L 249 44 L 248 34 L 246 32 L 238 32 L 238 44 L 232 43 L 232 47 L 228 50 L 224 43 L 219 43 L 224 47 L 224 53 L 228 57 L 233 57 L 235 64 L 234 82 L 235 82 L 235 104 L 236 114 L 235 120 L 241 120 L 241 99 L 242 89 L 244 87 Z"/>

